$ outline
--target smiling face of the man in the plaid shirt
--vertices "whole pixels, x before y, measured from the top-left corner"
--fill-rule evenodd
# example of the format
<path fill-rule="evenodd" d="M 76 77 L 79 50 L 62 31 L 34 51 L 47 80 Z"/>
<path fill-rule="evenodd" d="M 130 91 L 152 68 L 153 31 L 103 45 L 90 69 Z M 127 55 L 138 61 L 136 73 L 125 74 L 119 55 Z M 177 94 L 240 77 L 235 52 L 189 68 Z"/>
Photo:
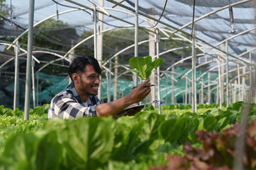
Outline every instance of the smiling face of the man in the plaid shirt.
<path fill-rule="evenodd" d="M 79 95 L 89 97 L 97 95 L 99 89 L 99 73 L 96 72 L 92 64 L 87 64 L 85 72 L 79 73 L 76 89 Z"/>

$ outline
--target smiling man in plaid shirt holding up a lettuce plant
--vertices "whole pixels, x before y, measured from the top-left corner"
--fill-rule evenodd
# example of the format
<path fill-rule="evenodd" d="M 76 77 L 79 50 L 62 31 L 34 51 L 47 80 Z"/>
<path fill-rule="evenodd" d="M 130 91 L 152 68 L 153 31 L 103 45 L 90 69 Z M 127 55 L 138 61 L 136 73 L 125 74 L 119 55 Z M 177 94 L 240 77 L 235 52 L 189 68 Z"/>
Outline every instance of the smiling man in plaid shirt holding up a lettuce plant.
<path fill-rule="evenodd" d="M 108 115 L 114 115 L 114 118 L 117 118 L 117 113 L 133 103 L 139 103 L 151 91 L 150 87 L 145 87 L 149 82 L 147 79 L 125 97 L 110 103 L 102 103 L 96 97 L 101 72 L 96 58 L 89 56 L 74 58 L 69 66 L 69 76 L 72 83 L 65 91 L 61 91 L 53 97 L 47 118 L 76 119 L 83 116 L 102 117 Z"/>

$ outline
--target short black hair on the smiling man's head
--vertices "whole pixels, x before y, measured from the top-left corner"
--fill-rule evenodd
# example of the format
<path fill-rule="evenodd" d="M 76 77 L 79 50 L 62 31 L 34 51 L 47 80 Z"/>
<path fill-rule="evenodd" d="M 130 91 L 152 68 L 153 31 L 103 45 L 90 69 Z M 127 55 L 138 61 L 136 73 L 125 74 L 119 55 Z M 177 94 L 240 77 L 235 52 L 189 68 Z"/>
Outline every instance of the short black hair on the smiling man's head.
<path fill-rule="evenodd" d="M 69 77 L 72 79 L 73 73 L 84 73 L 85 67 L 87 64 L 92 64 L 94 69 L 99 75 L 102 74 L 102 69 L 99 67 L 99 62 L 96 58 L 91 56 L 78 56 L 72 60 L 72 63 L 69 65 Z"/>

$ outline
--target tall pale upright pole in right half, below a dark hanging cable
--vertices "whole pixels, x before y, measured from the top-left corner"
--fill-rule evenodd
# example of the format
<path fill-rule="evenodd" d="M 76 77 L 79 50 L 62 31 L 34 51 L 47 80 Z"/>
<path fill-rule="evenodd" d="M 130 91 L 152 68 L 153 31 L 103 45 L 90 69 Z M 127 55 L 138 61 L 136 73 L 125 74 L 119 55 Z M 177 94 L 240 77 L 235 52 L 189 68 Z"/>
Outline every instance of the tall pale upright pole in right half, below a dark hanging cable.
<path fill-rule="evenodd" d="M 195 29 L 192 34 L 192 112 L 197 112 L 197 77 L 196 77 L 196 49 L 195 49 Z"/>

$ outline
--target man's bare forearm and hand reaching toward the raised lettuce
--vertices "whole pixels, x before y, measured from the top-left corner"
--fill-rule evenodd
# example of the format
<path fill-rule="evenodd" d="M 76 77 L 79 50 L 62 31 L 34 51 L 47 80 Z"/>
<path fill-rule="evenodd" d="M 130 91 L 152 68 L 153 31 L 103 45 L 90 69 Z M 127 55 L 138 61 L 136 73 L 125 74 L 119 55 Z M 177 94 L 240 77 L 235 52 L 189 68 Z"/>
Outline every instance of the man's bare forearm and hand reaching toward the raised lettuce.
<path fill-rule="evenodd" d="M 149 79 L 147 79 L 145 82 L 142 82 L 138 86 L 138 88 L 135 88 L 132 92 L 130 92 L 130 94 L 126 95 L 125 97 L 114 100 L 110 103 L 103 103 L 96 106 L 96 115 L 98 117 L 116 115 L 127 106 L 130 106 L 133 103 L 139 103 L 151 92 L 150 87 L 145 87 L 148 82 Z"/>

